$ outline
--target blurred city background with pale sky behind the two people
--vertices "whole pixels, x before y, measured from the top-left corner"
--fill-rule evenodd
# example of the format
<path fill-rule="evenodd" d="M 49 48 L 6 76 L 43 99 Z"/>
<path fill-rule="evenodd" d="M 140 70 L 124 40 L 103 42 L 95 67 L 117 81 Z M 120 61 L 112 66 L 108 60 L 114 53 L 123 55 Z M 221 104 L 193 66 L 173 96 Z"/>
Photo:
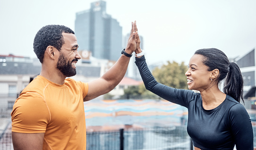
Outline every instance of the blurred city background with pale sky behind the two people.
<path fill-rule="evenodd" d="M 82 59 L 72 78 L 83 82 L 99 78 L 118 60 L 135 20 L 149 69 L 165 85 L 187 89 L 185 72 L 194 52 L 222 50 L 242 72 L 243 104 L 255 133 L 255 6 L 255 0 L 0 0 L 0 150 L 13 149 L 10 112 L 41 71 L 33 41 L 48 24 L 75 32 Z M 187 109 L 146 91 L 134 62 L 133 56 L 114 90 L 84 103 L 87 149 L 193 149 Z"/>

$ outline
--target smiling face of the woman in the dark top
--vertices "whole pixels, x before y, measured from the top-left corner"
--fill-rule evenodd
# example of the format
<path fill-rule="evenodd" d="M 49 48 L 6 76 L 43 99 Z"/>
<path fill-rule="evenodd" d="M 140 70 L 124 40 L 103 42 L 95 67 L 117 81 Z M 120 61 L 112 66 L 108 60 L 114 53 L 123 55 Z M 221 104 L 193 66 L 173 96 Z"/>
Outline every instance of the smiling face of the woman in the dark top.
<path fill-rule="evenodd" d="M 203 55 L 195 54 L 190 58 L 188 71 L 185 73 L 188 79 L 188 89 L 204 91 L 211 84 L 212 71 L 203 63 Z"/>

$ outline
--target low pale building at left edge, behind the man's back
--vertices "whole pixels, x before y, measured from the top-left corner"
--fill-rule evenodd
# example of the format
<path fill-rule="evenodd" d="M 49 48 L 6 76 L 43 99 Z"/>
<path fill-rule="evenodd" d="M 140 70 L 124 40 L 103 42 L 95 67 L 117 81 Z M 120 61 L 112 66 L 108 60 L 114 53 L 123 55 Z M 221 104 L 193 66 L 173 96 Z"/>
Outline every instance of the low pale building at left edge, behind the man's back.
<path fill-rule="evenodd" d="M 12 109 L 17 95 L 40 71 L 29 57 L 0 55 L 0 105 Z"/>

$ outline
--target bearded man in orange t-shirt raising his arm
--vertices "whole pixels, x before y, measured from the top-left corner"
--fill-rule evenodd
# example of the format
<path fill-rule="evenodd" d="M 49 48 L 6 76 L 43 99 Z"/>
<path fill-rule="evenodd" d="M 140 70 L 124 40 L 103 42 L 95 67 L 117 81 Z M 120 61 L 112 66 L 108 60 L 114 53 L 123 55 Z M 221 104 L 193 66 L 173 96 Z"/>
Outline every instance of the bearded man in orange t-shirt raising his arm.
<path fill-rule="evenodd" d="M 101 78 L 83 83 L 76 75 L 81 59 L 74 32 L 47 25 L 34 38 L 34 52 L 42 70 L 17 98 L 12 116 L 14 150 L 85 150 L 84 103 L 110 92 L 124 77 L 136 49 L 135 23 L 125 51 Z"/>

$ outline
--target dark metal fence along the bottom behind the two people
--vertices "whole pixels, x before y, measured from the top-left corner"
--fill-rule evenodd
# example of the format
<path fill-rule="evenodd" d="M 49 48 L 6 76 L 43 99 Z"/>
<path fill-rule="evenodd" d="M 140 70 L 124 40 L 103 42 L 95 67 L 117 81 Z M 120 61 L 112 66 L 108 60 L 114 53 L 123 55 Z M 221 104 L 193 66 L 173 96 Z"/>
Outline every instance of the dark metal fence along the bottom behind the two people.
<path fill-rule="evenodd" d="M 185 126 L 87 132 L 86 150 L 193 150 Z M 0 150 L 13 150 L 11 133 L 0 138 Z"/>

